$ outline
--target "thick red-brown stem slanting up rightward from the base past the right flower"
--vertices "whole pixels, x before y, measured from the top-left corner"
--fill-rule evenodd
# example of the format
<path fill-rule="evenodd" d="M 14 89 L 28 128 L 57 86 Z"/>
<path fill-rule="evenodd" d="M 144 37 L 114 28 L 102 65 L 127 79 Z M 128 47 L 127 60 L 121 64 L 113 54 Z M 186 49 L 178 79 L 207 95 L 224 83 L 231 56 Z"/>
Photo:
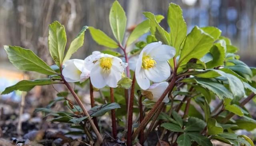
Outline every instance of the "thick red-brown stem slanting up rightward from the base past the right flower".
<path fill-rule="evenodd" d="M 170 84 L 168 85 L 168 87 L 166 88 L 164 93 L 161 95 L 161 97 L 158 99 L 158 101 L 156 102 L 154 107 L 149 111 L 148 115 L 146 115 L 146 117 L 144 117 L 144 119 L 140 123 L 139 127 L 134 131 L 134 133 L 132 134 L 132 140 L 134 140 L 137 137 L 140 130 L 142 130 L 146 126 L 147 121 L 150 120 L 151 117 L 154 115 L 154 113 L 156 112 L 156 109 L 158 109 L 158 107 L 164 100 L 164 97 L 168 94 L 168 92 L 173 90 L 176 80 L 177 79 L 176 79 L 176 69 L 175 69 L 174 78 L 172 78 L 172 81 L 170 82 Z"/>

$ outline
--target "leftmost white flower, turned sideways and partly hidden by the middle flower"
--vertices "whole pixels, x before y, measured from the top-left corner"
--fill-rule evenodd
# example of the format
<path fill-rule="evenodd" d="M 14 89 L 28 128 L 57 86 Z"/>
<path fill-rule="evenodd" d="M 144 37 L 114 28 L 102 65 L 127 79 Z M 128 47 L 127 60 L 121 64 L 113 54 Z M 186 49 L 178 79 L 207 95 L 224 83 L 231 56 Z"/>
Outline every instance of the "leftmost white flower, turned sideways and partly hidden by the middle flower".
<path fill-rule="evenodd" d="M 84 66 L 84 60 L 71 59 L 64 62 L 62 75 L 67 82 L 84 82 L 90 77 L 90 71 Z"/>

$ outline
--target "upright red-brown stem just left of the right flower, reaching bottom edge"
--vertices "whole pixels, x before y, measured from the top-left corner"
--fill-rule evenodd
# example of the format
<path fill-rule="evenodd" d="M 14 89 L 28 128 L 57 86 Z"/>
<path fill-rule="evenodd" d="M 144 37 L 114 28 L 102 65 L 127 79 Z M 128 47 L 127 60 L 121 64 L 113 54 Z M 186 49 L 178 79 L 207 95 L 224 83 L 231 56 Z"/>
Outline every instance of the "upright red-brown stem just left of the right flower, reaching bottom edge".
<path fill-rule="evenodd" d="M 135 74 L 132 79 L 131 95 L 129 102 L 129 111 L 128 111 L 128 127 L 127 127 L 127 146 L 132 146 L 132 112 L 133 112 L 133 100 L 134 100 L 134 90 L 135 90 Z M 140 129 L 142 130 L 142 129 Z"/>

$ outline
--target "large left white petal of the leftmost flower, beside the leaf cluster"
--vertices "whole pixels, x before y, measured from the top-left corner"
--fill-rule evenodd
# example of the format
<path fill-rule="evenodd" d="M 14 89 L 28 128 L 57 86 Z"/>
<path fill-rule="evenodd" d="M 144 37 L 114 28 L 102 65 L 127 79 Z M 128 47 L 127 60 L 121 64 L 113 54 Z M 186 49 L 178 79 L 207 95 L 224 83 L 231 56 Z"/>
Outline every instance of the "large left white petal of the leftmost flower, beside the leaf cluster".
<path fill-rule="evenodd" d="M 67 82 L 78 82 L 80 81 L 81 71 L 74 65 L 74 59 L 67 60 L 64 62 L 64 68 L 62 75 Z"/>

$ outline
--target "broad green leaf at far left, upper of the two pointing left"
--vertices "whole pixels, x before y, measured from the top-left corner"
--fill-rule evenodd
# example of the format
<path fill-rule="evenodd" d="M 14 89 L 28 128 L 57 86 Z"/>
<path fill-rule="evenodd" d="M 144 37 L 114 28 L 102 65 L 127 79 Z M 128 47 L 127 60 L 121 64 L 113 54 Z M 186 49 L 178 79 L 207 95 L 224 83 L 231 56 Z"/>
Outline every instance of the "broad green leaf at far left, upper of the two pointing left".
<path fill-rule="evenodd" d="M 4 46 L 8 58 L 12 64 L 19 70 L 34 71 L 41 74 L 57 74 L 42 59 L 36 56 L 31 50 L 17 46 Z"/>

